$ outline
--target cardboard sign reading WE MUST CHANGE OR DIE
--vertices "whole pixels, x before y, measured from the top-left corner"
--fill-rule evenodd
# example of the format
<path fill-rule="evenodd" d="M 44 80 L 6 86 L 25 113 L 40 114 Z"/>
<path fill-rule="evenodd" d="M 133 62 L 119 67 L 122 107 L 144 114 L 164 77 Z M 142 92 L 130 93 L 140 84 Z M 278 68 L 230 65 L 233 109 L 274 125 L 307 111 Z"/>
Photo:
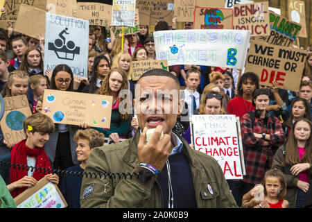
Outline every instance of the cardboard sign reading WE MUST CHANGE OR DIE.
<path fill-rule="evenodd" d="M 298 92 L 305 57 L 306 52 L 300 49 L 252 40 L 245 72 L 257 74 L 259 85 L 272 86 L 273 81 L 276 81 L 281 89 Z"/>

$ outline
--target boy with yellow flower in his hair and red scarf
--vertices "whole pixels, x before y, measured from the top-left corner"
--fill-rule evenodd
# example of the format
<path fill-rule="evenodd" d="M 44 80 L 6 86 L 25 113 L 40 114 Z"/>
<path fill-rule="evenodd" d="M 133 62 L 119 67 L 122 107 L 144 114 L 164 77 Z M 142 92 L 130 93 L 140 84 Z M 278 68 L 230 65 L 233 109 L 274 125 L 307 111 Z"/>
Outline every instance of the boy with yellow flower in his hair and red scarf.
<path fill-rule="evenodd" d="M 23 164 L 30 167 L 52 169 L 51 160 L 44 152 L 44 144 L 49 140 L 49 134 L 54 131 L 53 121 L 45 114 L 36 113 L 26 117 L 23 121 L 26 139 L 21 140 L 12 151 L 0 158 L 1 161 L 12 164 Z M 45 171 L 28 171 L 11 167 L 0 168 L 0 174 L 6 181 L 8 190 L 13 198 L 21 194 L 28 187 L 33 187 L 39 180 L 46 177 L 50 182 L 58 185 L 58 175 Z"/>

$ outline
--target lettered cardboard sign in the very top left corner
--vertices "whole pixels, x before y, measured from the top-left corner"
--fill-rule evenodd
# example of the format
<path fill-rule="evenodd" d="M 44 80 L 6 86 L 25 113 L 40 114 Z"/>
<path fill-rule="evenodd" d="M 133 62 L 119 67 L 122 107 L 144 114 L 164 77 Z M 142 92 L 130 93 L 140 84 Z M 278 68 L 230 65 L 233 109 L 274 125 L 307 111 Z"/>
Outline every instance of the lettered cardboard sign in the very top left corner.
<path fill-rule="evenodd" d="M 1 14 L 0 17 L 1 28 L 8 29 L 8 27 L 15 25 L 21 4 L 40 8 L 41 10 L 46 10 L 46 0 L 6 0 L 6 3 L 4 3 L 5 11 Z"/>

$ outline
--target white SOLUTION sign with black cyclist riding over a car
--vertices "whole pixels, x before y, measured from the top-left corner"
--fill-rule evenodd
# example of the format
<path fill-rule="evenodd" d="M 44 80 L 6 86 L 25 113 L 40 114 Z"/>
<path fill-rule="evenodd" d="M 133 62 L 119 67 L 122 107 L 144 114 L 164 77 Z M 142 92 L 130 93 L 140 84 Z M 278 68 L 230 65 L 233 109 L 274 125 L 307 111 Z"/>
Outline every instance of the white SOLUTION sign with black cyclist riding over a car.
<path fill-rule="evenodd" d="M 66 64 L 73 75 L 87 77 L 89 21 L 46 12 L 44 71 Z"/>

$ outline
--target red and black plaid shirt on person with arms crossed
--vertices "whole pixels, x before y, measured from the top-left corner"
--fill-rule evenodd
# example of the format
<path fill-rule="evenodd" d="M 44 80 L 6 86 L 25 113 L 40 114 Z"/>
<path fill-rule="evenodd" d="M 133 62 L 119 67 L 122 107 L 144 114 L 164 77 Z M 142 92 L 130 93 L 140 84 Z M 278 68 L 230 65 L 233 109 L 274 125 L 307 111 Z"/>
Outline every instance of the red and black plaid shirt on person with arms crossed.
<path fill-rule="evenodd" d="M 275 119 L 275 127 L 272 126 L 274 123 L 271 118 Z M 261 183 L 265 173 L 267 157 L 270 168 L 277 148 L 286 142 L 284 130 L 281 128 L 281 122 L 276 117 L 271 118 L 268 118 L 267 128 L 264 126 L 263 119 L 257 117 L 254 119 L 254 128 L 252 128 L 250 114 L 248 113 L 244 114 L 241 119 L 241 136 L 246 169 L 246 175 L 243 178 L 244 182 L 252 184 Z M 275 134 L 277 131 L 281 133 Z M 265 140 L 255 137 L 254 133 L 269 134 L 269 145 L 264 146 L 263 142 Z"/>

